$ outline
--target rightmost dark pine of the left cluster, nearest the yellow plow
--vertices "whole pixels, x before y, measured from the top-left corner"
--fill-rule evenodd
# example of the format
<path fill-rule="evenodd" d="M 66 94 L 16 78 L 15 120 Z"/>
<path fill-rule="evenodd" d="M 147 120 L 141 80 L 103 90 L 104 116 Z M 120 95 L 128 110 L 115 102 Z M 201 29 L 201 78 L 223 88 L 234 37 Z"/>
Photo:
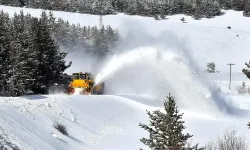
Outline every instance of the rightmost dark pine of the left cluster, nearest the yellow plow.
<path fill-rule="evenodd" d="M 48 16 L 42 12 L 41 18 L 35 22 L 37 29 L 35 33 L 35 47 L 38 54 L 38 71 L 36 74 L 36 93 L 47 93 L 48 88 L 58 82 L 63 72 L 70 67 L 65 64 L 64 58 L 67 53 L 59 52 L 59 46 L 51 37 Z"/>

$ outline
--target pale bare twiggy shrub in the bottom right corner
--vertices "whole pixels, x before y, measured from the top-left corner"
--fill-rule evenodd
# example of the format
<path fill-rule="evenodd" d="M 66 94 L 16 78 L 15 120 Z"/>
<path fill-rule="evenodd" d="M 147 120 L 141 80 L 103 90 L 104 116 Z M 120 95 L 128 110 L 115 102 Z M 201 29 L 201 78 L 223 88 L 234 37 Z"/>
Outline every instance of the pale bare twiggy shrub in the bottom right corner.
<path fill-rule="evenodd" d="M 207 143 L 206 150 L 247 150 L 245 139 L 236 133 L 235 129 L 228 129 L 222 137 Z"/>

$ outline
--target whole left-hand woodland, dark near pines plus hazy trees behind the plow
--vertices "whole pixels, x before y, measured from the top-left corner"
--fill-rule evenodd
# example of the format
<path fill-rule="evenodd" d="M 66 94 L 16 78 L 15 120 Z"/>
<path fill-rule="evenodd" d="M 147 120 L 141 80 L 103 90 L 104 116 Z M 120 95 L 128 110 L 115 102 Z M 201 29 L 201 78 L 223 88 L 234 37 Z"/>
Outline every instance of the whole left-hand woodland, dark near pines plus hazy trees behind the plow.
<path fill-rule="evenodd" d="M 68 53 L 84 51 L 103 59 L 119 39 L 110 26 L 97 29 L 55 20 L 52 13 L 42 12 L 38 19 L 22 11 L 13 18 L 0 12 L 0 96 L 64 91 L 69 83 L 64 71 L 72 63 L 65 62 Z"/>

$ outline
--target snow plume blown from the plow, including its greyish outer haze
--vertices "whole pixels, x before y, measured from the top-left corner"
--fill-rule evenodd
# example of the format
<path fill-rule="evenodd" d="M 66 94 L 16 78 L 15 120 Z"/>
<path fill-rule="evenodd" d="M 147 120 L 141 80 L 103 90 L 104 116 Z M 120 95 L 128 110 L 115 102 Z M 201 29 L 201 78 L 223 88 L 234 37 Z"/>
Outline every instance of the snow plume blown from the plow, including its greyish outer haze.
<path fill-rule="evenodd" d="M 223 109 L 217 102 L 220 97 L 206 84 L 187 39 L 164 32 L 151 43 L 138 46 L 133 38 L 140 35 L 131 37 L 133 49 L 124 48 L 111 57 L 96 77 L 97 83 L 105 82 L 106 94 L 140 95 L 164 101 L 171 93 L 181 108 L 212 115 L 229 113 L 220 110 Z"/>

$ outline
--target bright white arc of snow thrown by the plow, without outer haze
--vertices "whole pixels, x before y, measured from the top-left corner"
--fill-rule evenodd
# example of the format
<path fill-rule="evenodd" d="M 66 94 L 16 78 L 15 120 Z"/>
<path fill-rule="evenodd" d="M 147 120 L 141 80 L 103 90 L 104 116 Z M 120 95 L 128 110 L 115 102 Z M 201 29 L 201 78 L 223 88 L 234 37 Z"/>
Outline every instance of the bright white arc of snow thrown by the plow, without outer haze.
<path fill-rule="evenodd" d="M 107 94 L 149 96 L 164 101 L 168 93 L 180 107 L 218 112 L 209 90 L 193 76 L 182 57 L 171 49 L 140 47 L 114 56 L 98 74 Z M 197 107 L 199 106 L 199 107 Z"/>

